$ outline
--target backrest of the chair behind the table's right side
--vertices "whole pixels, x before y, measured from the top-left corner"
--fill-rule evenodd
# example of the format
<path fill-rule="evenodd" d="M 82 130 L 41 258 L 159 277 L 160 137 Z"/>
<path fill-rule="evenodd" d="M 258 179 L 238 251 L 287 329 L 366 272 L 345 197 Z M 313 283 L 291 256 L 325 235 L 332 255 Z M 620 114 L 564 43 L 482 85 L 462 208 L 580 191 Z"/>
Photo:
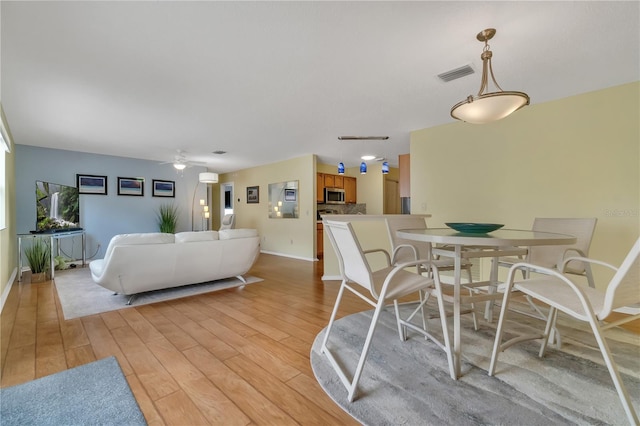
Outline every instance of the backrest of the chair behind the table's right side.
<path fill-rule="evenodd" d="M 533 222 L 533 231 L 574 235 L 577 238 L 577 242 L 565 246 L 531 247 L 529 250 L 529 262 L 547 268 L 556 268 L 568 248 L 578 249 L 583 253 L 584 257 L 588 257 L 596 222 L 596 218 L 537 217 Z M 580 256 L 580 254 L 569 253 L 568 256 Z M 567 267 L 567 271 L 574 274 L 582 274 L 585 271 L 585 265 L 582 262 L 572 262 Z"/>

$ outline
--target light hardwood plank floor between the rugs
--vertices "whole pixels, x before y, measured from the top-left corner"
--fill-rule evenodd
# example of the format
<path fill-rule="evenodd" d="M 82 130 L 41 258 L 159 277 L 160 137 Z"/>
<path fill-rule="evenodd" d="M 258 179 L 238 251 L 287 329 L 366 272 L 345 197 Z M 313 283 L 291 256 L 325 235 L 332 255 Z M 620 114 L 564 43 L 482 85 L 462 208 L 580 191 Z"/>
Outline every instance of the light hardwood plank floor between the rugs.
<path fill-rule="evenodd" d="M 309 363 L 339 283 L 322 262 L 266 254 L 251 274 L 264 281 L 68 321 L 55 284 L 26 274 L 0 317 L 0 387 L 113 355 L 150 425 L 358 424 Z M 370 309 L 345 297 L 340 316 Z"/>

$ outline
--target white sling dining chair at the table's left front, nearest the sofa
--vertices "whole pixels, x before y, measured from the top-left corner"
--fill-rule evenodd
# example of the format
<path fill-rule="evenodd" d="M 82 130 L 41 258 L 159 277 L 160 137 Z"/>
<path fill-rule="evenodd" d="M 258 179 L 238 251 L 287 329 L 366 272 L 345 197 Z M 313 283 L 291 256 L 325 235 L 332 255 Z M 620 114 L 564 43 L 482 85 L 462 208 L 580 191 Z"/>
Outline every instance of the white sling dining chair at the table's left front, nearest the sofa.
<path fill-rule="evenodd" d="M 431 339 L 441 349 L 445 350 L 449 357 L 451 357 L 451 345 L 449 344 L 449 334 L 446 328 L 446 321 L 444 320 L 445 315 L 441 315 L 441 318 L 443 318 L 443 320 L 441 320 L 441 325 L 443 327 L 444 338 L 444 343 L 441 343 L 427 330 L 416 326 L 411 322 L 411 318 L 413 314 L 415 314 L 415 311 L 411 316 L 404 319 L 401 318 L 397 303 L 397 299 L 413 293 L 418 293 L 421 290 L 434 290 L 434 292 L 437 291 L 439 294 L 440 281 L 437 274 L 434 274 L 433 277 L 431 277 L 428 275 L 415 274 L 406 270 L 406 268 L 417 265 L 423 265 L 424 268 L 428 269 L 430 259 L 418 259 L 416 261 L 401 263 L 394 266 L 391 264 L 389 253 L 384 249 L 363 251 L 350 222 L 324 220 L 323 223 L 324 229 L 329 236 L 331 245 L 338 258 L 342 284 L 340 285 L 340 290 L 322 341 L 321 353 L 327 356 L 342 384 L 347 388 L 347 399 L 349 402 L 352 402 L 356 396 L 358 381 L 362 375 L 367 355 L 371 348 L 378 319 L 380 318 L 382 311 L 387 307 L 386 304 L 389 302 L 394 302 L 396 322 L 401 340 L 406 338 L 406 335 L 403 334 L 403 329 L 406 329 L 407 327 L 411 328 Z M 366 258 L 368 254 L 372 253 L 382 253 L 387 259 L 387 267 L 372 271 Z M 348 372 L 346 367 L 343 367 L 344 364 L 338 360 L 337 354 L 334 353 L 337 352 L 339 348 L 334 348 L 334 352 L 329 348 L 329 338 L 333 330 L 334 321 L 345 290 L 352 292 L 369 305 L 375 307 L 368 327 L 364 346 L 362 347 L 358 364 L 353 373 Z M 444 314 L 444 304 L 442 299 L 438 297 L 438 300 L 440 311 Z M 449 361 L 451 360 L 449 359 Z M 392 360 L 389 360 L 389 362 L 392 362 Z M 449 365 L 452 365 L 452 363 L 449 362 Z"/>

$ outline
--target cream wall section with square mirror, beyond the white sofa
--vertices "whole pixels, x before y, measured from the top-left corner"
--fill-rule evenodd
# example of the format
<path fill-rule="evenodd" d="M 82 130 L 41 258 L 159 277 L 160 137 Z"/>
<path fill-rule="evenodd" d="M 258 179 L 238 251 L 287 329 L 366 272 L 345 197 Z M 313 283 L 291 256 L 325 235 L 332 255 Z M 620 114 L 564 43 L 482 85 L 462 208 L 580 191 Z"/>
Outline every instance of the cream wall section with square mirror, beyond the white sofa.
<path fill-rule="evenodd" d="M 299 211 L 297 219 L 269 219 L 269 184 L 298 181 Z M 255 228 L 262 237 L 261 250 L 268 253 L 312 260 L 316 237 L 316 157 L 285 160 L 233 173 L 222 174 L 220 183 L 233 182 L 233 209 L 236 228 Z M 247 204 L 247 187 L 260 187 L 260 202 Z M 218 205 L 219 184 L 214 185 L 214 211 Z M 240 201 L 238 201 L 240 199 Z"/>

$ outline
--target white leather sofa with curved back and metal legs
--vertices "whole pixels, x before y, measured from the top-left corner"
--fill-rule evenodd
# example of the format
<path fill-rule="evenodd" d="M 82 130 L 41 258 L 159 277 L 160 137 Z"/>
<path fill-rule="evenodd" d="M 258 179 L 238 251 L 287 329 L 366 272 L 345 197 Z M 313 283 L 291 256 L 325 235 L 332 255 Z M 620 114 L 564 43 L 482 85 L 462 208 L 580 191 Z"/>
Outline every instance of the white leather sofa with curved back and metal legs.
<path fill-rule="evenodd" d="M 92 261 L 89 268 L 102 287 L 133 296 L 229 277 L 246 282 L 242 275 L 259 253 L 255 229 L 121 234 L 111 239 L 104 259 Z"/>

